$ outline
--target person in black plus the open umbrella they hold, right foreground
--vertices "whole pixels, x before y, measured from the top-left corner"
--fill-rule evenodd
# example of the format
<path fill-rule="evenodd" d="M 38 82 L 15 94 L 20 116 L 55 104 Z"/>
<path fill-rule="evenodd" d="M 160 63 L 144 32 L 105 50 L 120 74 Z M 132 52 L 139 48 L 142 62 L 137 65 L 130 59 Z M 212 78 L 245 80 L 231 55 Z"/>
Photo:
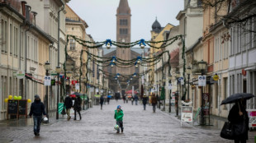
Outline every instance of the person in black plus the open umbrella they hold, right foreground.
<path fill-rule="evenodd" d="M 249 117 L 246 112 L 246 99 L 250 99 L 252 97 L 254 97 L 254 95 L 245 93 L 235 94 L 230 95 L 230 97 L 221 102 L 221 104 L 235 103 L 235 105 L 230 109 L 228 116 L 229 122 L 233 125 L 235 143 L 246 143 L 246 140 L 248 140 Z"/>

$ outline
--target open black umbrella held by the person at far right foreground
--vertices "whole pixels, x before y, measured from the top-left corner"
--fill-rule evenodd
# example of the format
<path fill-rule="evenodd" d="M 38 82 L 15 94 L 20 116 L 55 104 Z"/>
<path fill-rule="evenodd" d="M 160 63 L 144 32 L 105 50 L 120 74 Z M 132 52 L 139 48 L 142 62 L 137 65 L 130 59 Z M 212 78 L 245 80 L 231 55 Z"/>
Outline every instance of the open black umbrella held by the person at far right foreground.
<path fill-rule="evenodd" d="M 239 93 L 239 94 L 235 94 L 235 95 L 230 95 L 230 97 L 224 99 L 221 102 L 221 104 L 232 104 L 232 103 L 235 103 L 235 101 L 238 100 L 238 99 L 250 99 L 252 97 L 254 97 L 254 95 L 246 94 L 246 93 Z"/>

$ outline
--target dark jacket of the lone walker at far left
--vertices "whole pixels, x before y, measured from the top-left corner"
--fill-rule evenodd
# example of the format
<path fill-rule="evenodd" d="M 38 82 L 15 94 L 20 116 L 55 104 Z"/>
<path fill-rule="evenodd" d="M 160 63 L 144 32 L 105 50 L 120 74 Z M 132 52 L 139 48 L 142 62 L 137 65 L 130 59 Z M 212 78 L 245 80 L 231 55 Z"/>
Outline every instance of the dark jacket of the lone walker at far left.
<path fill-rule="evenodd" d="M 30 116 L 42 116 L 42 114 L 46 115 L 45 113 L 45 105 L 41 102 L 41 100 L 36 100 L 31 104 L 31 112 L 29 113 Z"/>

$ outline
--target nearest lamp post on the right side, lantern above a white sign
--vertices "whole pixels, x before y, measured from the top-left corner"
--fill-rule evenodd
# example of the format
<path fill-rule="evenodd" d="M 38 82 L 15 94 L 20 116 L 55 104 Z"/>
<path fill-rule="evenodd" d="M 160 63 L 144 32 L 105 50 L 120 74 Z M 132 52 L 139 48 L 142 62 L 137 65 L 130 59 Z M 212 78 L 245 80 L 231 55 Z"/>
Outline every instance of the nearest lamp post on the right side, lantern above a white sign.
<path fill-rule="evenodd" d="M 201 71 L 201 76 L 203 76 L 203 74 L 205 73 L 206 70 L 206 66 L 207 66 L 207 62 L 201 60 L 200 62 L 198 62 L 198 68 Z M 203 101 L 203 90 L 202 90 L 202 86 L 201 86 L 201 125 L 205 125 L 205 117 L 204 117 L 204 101 Z"/>

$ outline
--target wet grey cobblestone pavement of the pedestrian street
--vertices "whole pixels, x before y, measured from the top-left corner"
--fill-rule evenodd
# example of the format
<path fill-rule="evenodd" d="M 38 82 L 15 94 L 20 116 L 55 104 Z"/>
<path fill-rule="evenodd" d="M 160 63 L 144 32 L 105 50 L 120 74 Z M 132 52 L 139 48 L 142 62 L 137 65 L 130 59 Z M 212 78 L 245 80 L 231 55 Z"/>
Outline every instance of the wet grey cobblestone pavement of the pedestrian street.
<path fill-rule="evenodd" d="M 120 104 L 124 111 L 124 133 L 116 134 L 114 110 Z M 167 113 L 157 110 L 152 113 L 152 106 L 123 104 L 111 100 L 110 104 L 93 106 L 82 113 L 81 121 L 59 122 L 42 125 L 40 136 L 34 136 L 32 126 L 3 127 L 0 124 L 0 142 L 174 142 L 206 143 L 233 142 L 220 138 L 220 130 L 197 127 L 180 127 L 180 122 Z M 253 143 L 254 139 L 250 138 Z"/>

